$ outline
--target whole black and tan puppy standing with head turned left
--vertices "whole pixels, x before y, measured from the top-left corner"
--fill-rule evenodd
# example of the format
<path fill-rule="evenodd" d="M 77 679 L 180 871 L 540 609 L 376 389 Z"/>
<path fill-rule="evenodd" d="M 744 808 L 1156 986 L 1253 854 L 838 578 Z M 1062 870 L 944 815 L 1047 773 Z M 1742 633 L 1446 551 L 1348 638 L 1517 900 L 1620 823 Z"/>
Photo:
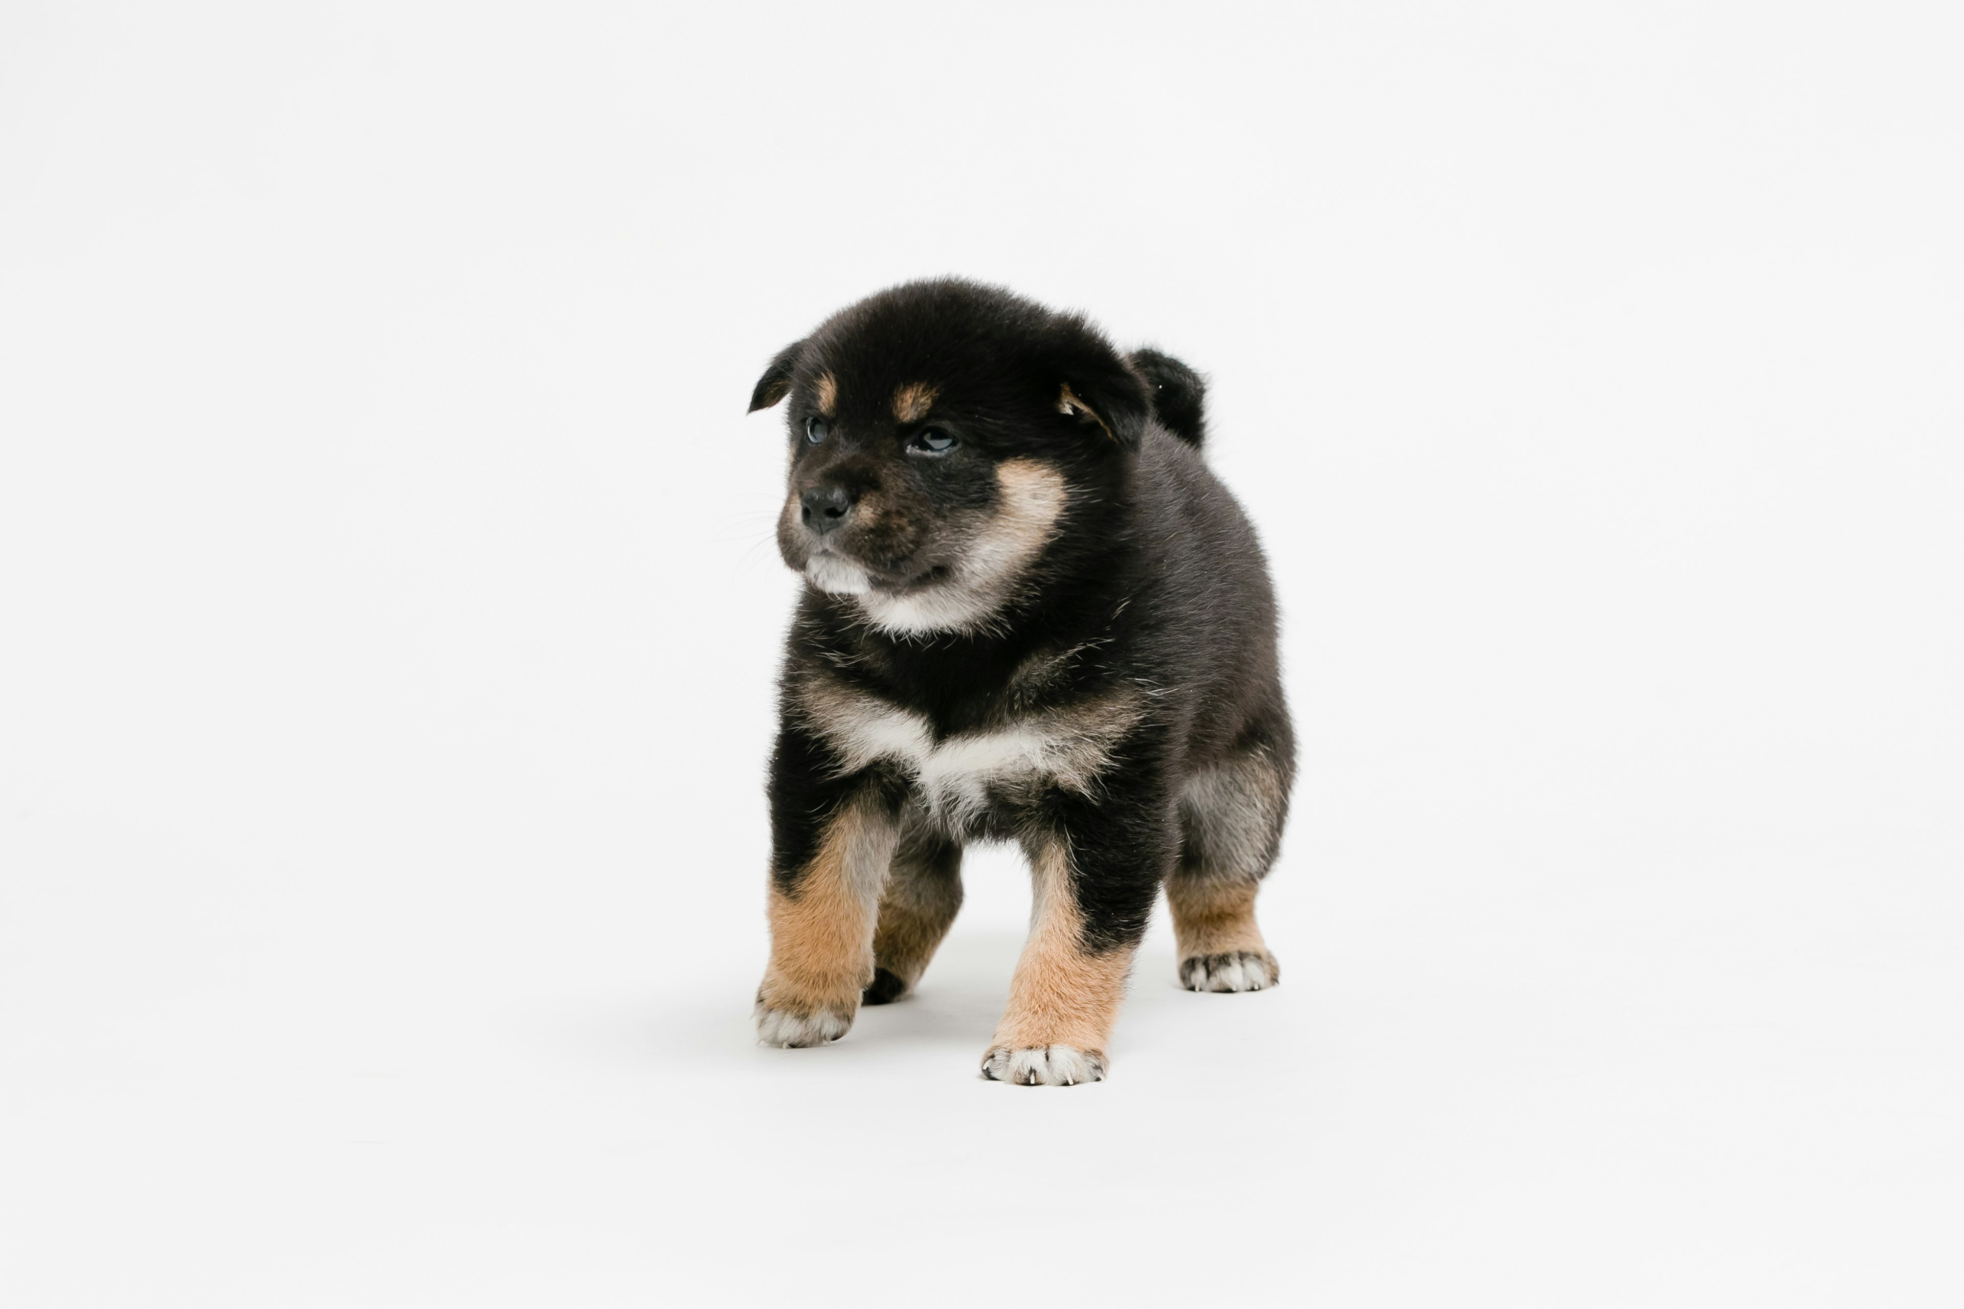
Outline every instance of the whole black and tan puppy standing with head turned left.
<path fill-rule="evenodd" d="M 1194 991 L 1259 991 L 1294 740 L 1255 532 L 1200 457 L 1202 383 L 962 281 L 788 345 L 778 548 L 805 575 L 770 761 L 758 1036 L 817 1046 L 905 995 L 968 840 L 1035 875 L 982 1072 L 1098 1081 L 1159 887 Z"/>

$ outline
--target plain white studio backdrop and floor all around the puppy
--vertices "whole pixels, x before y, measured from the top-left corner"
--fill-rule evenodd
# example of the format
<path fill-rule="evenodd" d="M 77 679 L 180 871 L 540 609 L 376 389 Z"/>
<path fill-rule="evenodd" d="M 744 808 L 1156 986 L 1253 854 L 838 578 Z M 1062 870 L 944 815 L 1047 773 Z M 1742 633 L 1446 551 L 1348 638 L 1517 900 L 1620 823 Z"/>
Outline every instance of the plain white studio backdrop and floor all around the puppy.
<path fill-rule="evenodd" d="M 1471 12 L 1461 12 L 1471 10 Z M 8 1305 L 1956 1305 L 1927 6 L 0 10 Z M 1214 379 L 1273 993 L 760 1050 L 770 355 Z"/>

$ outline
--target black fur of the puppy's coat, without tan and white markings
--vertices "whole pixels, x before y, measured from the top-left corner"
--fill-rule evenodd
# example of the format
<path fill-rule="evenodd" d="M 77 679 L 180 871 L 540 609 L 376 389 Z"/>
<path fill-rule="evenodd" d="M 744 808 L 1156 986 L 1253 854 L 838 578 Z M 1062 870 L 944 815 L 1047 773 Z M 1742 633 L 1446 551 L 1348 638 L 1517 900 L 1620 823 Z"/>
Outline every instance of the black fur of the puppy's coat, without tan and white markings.
<path fill-rule="evenodd" d="M 909 383 L 935 389 L 925 420 L 894 412 L 896 389 Z M 964 281 L 874 294 L 772 361 L 750 404 L 790 400 L 778 536 L 793 569 L 829 546 L 864 569 L 874 599 L 931 597 L 1004 512 L 1004 463 L 1051 469 L 1068 491 L 1041 553 L 960 630 L 884 630 L 866 597 L 805 589 L 770 769 L 782 891 L 795 893 L 843 799 L 919 805 L 903 763 L 843 765 L 801 708 L 813 679 L 925 716 L 937 742 L 1131 697 L 1139 718 L 1088 795 L 992 789 L 984 811 L 949 832 L 1025 844 L 1064 836 L 1088 952 L 1137 944 L 1165 877 L 1208 875 L 1192 836 L 1182 864 L 1182 795 L 1202 769 L 1255 759 L 1273 775 L 1275 830 L 1247 875 L 1267 871 L 1294 738 L 1261 548 L 1200 457 L 1204 394 L 1202 377 L 1171 355 L 1119 355 L 1080 316 Z M 823 424 L 821 444 L 807 438 L 809 420 Z M 956 445 L 933 455 L 919 447 L 923 432 Z M 852 508 L 819 538 L 801 497 L 835 487 Z M 882 971 L 866 999 L 894 999 L 903 985 Z"/>

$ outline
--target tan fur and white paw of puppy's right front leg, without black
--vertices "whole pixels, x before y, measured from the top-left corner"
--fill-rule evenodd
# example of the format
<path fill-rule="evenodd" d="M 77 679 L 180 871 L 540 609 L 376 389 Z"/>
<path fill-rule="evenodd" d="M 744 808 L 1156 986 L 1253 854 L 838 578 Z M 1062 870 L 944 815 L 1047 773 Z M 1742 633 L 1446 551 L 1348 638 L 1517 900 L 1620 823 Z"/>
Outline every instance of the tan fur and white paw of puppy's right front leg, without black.
<path fill-rule="evenodd" d="M 1104 1077 L 1104 1048 L 1125 997 L 1131 948 L 1088 954 L 1084 918 L 1070 893 L 1070 856 L 1063 842 L 1045 842 L 1033 856 L 1037 905 L 1029 944 L 1015 964 L 1009 1007 L 996 1026 L 984 1073 L 1000 1079 L 1096 1081 Z M 1043 1062 L 1017 1058 L 1051 1048 Z M 1061 1048 L 1061 1050 L 1059 1050 Z M 1078 1058 L 1080 1056 L 1080 1058 Z M 1000 1068 L 998 1068 L 1000 1066 Z M 1011 1075 L 1004 1077 L 1008 1072 Z"/>

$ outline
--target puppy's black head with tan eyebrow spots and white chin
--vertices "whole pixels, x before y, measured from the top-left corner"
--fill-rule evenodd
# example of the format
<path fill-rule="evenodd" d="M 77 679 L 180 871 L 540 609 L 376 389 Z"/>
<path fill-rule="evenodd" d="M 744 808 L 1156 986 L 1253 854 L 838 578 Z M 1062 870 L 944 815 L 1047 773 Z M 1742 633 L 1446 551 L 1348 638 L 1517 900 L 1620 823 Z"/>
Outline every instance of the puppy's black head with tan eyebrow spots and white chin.
<path fill-rule="evenodd" d="M 1041 585 L 1072 504 L 1151 420 L 1141 377 L 1082 318 L 962 281 L 882 290 L 772 359 L 790 400 L 784 561 L 890 632 L 978 630 Z"/>

